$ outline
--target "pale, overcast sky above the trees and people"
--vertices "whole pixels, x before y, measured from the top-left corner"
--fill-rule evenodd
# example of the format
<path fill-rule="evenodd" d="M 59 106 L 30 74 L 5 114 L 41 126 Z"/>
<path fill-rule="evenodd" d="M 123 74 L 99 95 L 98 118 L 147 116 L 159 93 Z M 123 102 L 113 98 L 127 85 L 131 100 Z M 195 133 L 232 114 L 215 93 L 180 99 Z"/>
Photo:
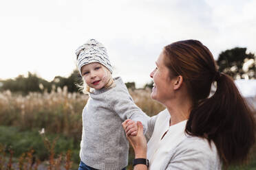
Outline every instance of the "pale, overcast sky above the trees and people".
<path fill-rule="evenodd" d="M 89 38 L 107 48 L 113 76 L 137 87 L 171 42 L 200 40 L 215 59 L 233 47 L 256 53 L 256 0 L 8 0 L 0 21 L 1 80 L 68 77 Z"/>

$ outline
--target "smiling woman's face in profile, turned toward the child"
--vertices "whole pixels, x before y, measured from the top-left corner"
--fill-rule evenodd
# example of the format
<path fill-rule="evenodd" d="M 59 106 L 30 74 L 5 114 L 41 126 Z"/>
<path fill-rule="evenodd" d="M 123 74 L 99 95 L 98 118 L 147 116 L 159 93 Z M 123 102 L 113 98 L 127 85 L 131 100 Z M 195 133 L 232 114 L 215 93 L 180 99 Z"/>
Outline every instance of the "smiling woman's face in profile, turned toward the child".
<path fill-rule="evenodd" d="M 154 69 L 150 77 L 153 78 L 153 88 L 151 98 L 164 104 L 165 101 L 172 97 L 172 84 L 173 82 L 169 75 L 169 69 L 164 64 L 164 51 L 160 53 L 158 60 L 156 61 L 156 69 Z"/>

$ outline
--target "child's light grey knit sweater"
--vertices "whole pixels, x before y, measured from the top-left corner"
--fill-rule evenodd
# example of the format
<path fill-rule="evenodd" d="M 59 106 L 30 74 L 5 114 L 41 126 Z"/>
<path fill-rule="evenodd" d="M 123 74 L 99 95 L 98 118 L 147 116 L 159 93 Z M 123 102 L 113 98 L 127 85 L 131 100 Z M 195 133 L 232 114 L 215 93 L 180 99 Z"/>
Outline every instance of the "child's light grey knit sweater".
<path fill-rule="evenodd" d="M 134 104 L 122 79 L 116 77 L 114 81 L 115 87 L 91 93 L 83 109 L 80 158 L 94 169 L 120 170 L 127 166 L 129 143 L 123 121 L 141 121 L 147 130 L 147 114 Z"/>

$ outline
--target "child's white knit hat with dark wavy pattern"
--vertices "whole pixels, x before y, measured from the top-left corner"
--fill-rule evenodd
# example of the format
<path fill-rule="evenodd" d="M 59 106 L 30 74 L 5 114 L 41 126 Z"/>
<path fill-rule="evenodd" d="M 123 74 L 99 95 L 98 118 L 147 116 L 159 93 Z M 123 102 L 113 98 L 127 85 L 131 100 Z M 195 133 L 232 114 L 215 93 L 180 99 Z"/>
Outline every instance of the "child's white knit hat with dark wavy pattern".
<path fill-rule="evenodd" d="M 107 56 L 107 49 L 103 44 L 94 39 L 87 40 L 84 45 L 76 49 L 76 61 L 78 71 L 81 75 L 82 66 L 92 62 L 103 64 L 103 66 L 109 69 L 110 73 L 112 73 L 113 70 L 109 62 L 109 57 Z"/>

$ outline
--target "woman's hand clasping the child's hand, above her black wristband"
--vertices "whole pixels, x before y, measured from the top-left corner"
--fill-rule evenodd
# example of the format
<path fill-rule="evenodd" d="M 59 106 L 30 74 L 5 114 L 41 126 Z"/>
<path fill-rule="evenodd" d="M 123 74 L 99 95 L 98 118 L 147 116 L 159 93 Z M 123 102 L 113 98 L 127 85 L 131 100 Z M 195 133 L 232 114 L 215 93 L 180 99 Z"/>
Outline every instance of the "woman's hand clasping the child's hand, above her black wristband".
<path fill-rule="evenodd" d="M 122 127 L 125 132 L 128 132 L 129 124 L 127 124 L 130 120 L 127 119 L 122 123 Z M 147 140 L 143 134 L 143 125 L 140 121 L 137 121 L 138 125 L 138 133 L 136 136 L 126 135 L 129 143 L 134 148 L 135 158 L 147 158 Z"/>

